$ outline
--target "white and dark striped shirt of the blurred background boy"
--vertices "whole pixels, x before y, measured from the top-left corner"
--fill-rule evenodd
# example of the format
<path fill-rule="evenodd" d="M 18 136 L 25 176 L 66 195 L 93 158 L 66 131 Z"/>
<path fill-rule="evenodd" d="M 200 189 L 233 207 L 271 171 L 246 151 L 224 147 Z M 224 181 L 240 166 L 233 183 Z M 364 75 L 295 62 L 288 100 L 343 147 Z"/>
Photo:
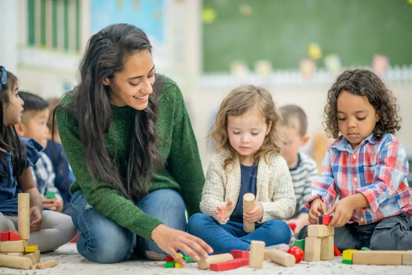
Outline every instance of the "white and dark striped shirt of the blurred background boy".
<path fill-rule="evenodd" d="M 293 217 L 305 212 L 304 202 L 311 196 L 311 182 L 318 176 L 318 167 L 313 158 L 299 153 L 295 168 L 289 169 L 296 196 L 296 210 Z"/>

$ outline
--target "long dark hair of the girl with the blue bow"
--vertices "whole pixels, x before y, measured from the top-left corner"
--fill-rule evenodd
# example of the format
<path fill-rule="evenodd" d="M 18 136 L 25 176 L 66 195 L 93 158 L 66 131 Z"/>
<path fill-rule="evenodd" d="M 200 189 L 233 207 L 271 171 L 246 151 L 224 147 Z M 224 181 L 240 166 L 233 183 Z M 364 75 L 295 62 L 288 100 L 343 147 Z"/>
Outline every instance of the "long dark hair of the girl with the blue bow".
<path fill-rule="evenodd" d="M 7 84 L 2 85 L 0 88 L 0 147 L 12 153 L 13 173 L 14 175 L 21 176 L 24 170 L 26 170 L 26 146 L 21 142 L 14 125 L 6 126 L 4 124 L 4 112 L 7 104 L 10 102 L 9 89 L 13 89 L 16 82 L 17 77 L 11 72 L 7 72 Z M 5 160 L 2 159 L 2 161 L 4 162 Z M 1 179 L 6 176 L 6 174 L 0 173 Z"/>

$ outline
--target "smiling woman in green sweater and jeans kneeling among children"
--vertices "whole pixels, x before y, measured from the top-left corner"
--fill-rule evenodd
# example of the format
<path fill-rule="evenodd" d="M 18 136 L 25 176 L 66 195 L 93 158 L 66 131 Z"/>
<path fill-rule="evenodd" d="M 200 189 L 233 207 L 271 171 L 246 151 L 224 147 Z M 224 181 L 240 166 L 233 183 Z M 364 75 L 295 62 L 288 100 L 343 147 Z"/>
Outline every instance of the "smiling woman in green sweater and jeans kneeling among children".
<path fill-rule="evenodd" d="M 155 75 L 151 48 L 133 25 L 104 28 L 88 42 L 78 87 L 56 107 L 76 178 L 77 249 L 91 261 L 124 261 L 137 248 L 185 265 L 177 250 L 193 259 L 212 251 L 183 231 L 185 203 L 189 215 L 199 212 L 204 174 L 183 96 Z"/>

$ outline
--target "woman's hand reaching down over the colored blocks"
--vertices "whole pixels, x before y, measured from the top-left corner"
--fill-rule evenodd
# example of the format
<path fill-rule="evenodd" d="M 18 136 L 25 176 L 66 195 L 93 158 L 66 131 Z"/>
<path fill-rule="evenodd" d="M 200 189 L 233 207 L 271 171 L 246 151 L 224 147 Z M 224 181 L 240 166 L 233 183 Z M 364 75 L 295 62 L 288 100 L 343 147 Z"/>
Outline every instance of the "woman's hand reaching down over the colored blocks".
<path fill-rule="evenodd" d="M 207 258 L 213 252 L 206 242 L 189 233 L 176 230 L 160 224 L 152 231 L 152 240 L 162 249 L 180 263 L 186 266 L 186 261 L 179 257 L 177 251 L 181 250 L 190 256 L 194 261 L 199 261 L 199 256 Z"/>

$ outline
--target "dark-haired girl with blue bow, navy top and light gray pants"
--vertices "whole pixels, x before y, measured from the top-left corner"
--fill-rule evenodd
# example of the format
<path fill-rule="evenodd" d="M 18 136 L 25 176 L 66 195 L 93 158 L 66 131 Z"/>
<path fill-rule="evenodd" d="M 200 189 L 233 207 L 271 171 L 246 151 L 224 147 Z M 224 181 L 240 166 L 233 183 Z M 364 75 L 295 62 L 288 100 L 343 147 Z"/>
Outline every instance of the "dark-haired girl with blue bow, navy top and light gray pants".
<path fill-rule="evenodd" d="M 76 228 L 69 216 L 42 211 L 42 200 L 32 175 L 42 147 L 34 140 L 20 139 L 16 133 L 14 124 L 20 122 L 23 111 L 18 91 L 17 78 L 0 66 L 0 231 L 17 232 L 17 194 L 29 193 L 33 232 L 28 244 L 38 245 L 40 252 L 47 252 L 72 240 Z"/>

